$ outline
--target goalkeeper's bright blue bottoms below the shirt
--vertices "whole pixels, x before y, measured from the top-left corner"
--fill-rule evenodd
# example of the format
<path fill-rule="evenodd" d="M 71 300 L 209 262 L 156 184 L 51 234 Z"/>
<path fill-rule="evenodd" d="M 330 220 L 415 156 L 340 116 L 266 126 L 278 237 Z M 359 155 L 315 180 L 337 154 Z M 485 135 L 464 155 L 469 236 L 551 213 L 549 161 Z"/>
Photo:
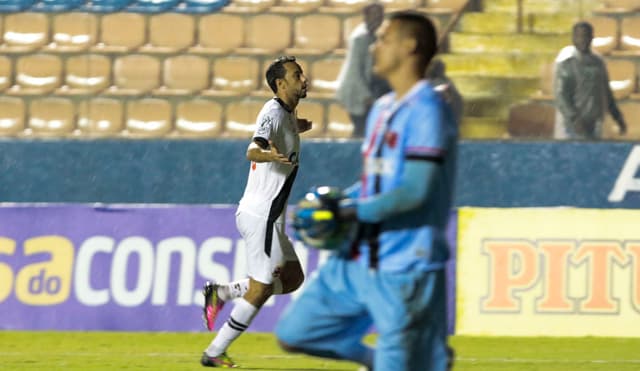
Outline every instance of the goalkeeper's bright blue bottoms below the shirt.
<path fill-rule="evenodd" d="M 357 361 L 378 333 L 374 370 L 445 371 L 444 270 L 391 273 L 330 258 L 284 311 L 278 339 L 307 354 Z"/>

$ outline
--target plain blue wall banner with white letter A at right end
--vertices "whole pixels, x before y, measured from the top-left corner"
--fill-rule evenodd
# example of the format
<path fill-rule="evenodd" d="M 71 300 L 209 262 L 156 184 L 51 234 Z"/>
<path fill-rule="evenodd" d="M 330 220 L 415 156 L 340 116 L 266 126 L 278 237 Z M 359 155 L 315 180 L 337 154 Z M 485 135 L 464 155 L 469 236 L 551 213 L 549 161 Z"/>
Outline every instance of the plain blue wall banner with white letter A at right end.
<path fill-rule="evenodd" d="M 290 200 L 359 179 L 361 142 L 302 143 Z M 234 204 L 246 140 L 0 140 L 0 202 Z M 455 205 L 640 207 L 632 142 L 462 141 Z"/>

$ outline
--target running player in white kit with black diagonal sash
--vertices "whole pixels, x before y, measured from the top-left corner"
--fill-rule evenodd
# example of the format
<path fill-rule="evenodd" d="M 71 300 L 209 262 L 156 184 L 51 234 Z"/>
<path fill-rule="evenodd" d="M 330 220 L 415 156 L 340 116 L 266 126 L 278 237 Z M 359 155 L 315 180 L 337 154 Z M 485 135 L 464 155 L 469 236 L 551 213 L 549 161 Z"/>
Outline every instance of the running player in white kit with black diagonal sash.
<path fill-rule="evenodd" d="M 202 355 L 206 367 L 233 368 L 227 348 L 246 330 L 271 295 L 296 290 L 304 280 L 302 267 L 285 234 L 285 211 L 298 171 L 299 133 L 311 122 L 299 119 L 296 106 L 307 95 L 307 78 L 295 57 L 271 63 L 267 83 L 275 97 L 265 103 L 256 119 L 256 131 L 247 148 L 251 161 L 236 225 L 247 248 L 249 278 L 225 285 L 207 282 L 204 318 L 209 330 L 225 301 L 239 298 L 229 319 Z"/>

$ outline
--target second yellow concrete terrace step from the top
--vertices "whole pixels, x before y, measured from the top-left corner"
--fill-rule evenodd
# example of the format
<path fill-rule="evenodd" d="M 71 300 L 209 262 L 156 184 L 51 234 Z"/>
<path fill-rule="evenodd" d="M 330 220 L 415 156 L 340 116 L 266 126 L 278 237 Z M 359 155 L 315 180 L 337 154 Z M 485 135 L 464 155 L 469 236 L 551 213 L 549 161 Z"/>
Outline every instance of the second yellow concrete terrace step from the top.
<path fill-rule="evenodd" d="M 571 27 L 579 19 L 575 13 L 525 13 L 522 31 L 535 34 L 569 34 Z M 467 13 L 458 23 L 457 30 L 476 34 L 513 34 L 518 31 L 518 25 L 513 13 Z"/>

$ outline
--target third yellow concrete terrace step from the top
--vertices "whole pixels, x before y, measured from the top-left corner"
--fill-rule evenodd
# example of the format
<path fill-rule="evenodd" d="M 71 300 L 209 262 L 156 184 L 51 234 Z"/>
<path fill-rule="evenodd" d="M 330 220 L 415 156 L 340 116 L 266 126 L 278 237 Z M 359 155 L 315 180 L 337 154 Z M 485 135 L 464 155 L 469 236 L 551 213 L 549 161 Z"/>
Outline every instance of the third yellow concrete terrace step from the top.
<path fill-rule="evenodd" d="M 534 54 L 557 53 L 571 44 L 566 35 L 493 34 L 453 32 L 449 35 L 451 53 Z"/>

